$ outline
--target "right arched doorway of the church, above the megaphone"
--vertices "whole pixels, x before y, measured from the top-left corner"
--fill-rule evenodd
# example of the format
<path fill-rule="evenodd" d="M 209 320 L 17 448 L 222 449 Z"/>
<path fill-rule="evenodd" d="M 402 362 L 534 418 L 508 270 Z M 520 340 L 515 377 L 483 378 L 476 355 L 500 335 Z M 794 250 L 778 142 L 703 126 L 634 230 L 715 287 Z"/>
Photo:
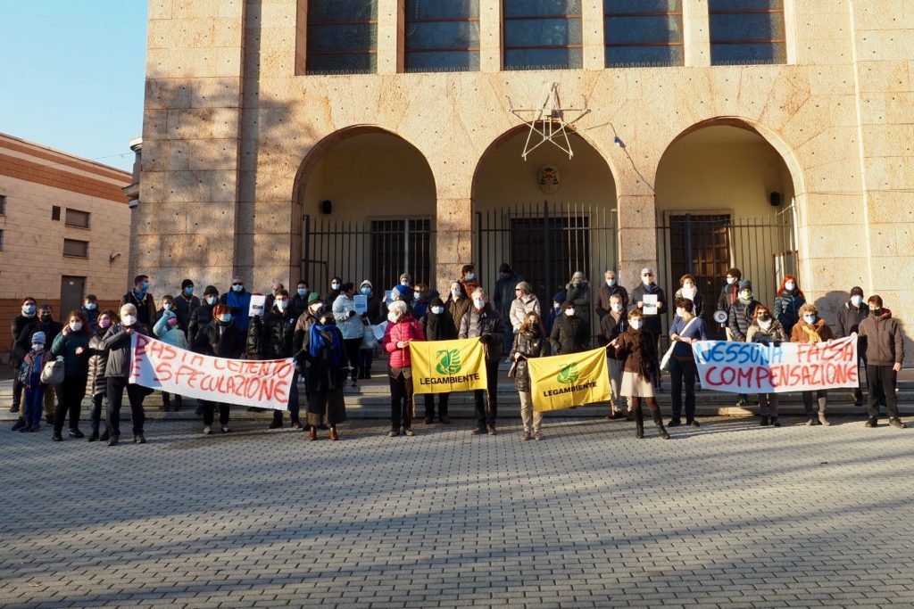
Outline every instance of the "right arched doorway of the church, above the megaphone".
<path fill-rule="evenodd" d="M 727 270 L 736 267 L 752 281 L 756 298 L 771 306 L 781 278 L 799 271 L 799 178 L 744 121 L 707 121 L 676 138 L 655 181 L 658 278 L 667 294 L 679 289 L 685 273 L 695 276 L 710 321 Z"/>

